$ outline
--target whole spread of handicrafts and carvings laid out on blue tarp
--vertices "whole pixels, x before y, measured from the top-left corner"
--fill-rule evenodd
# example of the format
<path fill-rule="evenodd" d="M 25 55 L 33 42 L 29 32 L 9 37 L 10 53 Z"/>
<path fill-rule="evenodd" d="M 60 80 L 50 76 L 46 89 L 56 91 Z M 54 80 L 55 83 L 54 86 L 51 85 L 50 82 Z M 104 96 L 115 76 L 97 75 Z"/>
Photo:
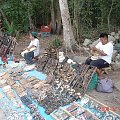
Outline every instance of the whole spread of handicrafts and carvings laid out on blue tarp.
<path fill-rule="evenodd" d="M 41 59 L 43 72 L 34 65 L 26 66 L 24 61 L 8 61 L 5 66 L 0 61 L 0 108 L 6 120 L 120 119 L 85 94 L 95 68 L 84 64 L 72 67 L 47 57 L 47 61 Z"/>

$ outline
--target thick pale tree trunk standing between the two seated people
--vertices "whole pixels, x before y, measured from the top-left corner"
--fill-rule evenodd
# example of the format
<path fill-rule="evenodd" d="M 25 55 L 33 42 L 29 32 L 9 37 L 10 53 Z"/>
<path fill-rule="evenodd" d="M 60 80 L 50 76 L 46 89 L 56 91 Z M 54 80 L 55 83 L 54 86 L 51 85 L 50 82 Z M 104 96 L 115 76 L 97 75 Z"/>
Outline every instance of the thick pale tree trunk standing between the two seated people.
<path fill-rule="evenodd" d="M 59 0 L 59 5 L 63 24 L 64 45 L 66 52 L 67 50 L 72 51 L 72 47 L 76 44 L 76 42 L 72 31 L 67 0 Z"/>

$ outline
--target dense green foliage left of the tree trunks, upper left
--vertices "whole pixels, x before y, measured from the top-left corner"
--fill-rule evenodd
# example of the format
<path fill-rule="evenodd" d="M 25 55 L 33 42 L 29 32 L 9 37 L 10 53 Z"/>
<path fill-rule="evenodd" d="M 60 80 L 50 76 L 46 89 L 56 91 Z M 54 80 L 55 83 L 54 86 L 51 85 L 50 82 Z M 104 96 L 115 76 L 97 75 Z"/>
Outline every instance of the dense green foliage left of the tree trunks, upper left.
<path fill-rule="evenodd" d="M 28 32 L 31 25 L 40 29 L 40 25 L 50 23 L 50 0 L 4 0 L 0 7 L 20 32 Z"/>

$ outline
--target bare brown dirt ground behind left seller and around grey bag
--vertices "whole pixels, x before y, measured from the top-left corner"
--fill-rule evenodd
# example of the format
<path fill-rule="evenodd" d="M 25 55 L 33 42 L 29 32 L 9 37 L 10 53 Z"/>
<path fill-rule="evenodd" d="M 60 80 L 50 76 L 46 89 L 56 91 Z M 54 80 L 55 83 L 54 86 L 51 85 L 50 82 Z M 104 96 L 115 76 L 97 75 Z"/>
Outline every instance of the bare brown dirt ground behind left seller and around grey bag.
<path fill-rule="evenodd" d="M 39 38 L 40 39 L 40 49 L 41 51 L 48 47 L 48 44 L 55 38 L 55 36 L 50 36 L 46 38 Z M 15 48 L 15 56 L 20 57 L 20 52 L 22 49 L 25 48 L 29 44 L 30 40 L 28 36 L 22 36 L 19 40 L 16 48 Z M 120 81 L 119 78 L 120 70 L 117 71 L 110 71 L 105 77 L 109 77 L 113 80 L 113 83 L 117 83 Z M 119 86 L 120 87 L 120 86 Z M 92 96 L 99 102 L 109 106 L 109 109 L 117 108 L 114 110 L 117 114 L 120 115 L 120 91 L 117 88 L 114 88 L 112 93 L 100 93 L 96 92 L 96 90 L 90 91 L 87 93 L 88 95 Z"/>

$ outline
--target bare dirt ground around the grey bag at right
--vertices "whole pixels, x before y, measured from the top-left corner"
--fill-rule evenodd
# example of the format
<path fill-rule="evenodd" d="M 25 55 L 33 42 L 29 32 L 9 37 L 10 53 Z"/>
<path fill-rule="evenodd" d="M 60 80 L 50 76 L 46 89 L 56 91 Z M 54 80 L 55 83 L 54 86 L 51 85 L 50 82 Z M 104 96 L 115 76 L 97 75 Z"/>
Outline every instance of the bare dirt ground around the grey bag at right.
<path fill-rule="evenodd" d="M 109 77 L 112 79 L 113 84 L 118 82 L 120 80 L 119 78 L 120 71 L 111 71 L 108 73 L 108 75 L 105 75 L 106 77 Z M 120 86 L 119 86 L 120 87 Z M 88 92 L 88 95 L 92 96 L 99 102 L 109 106 L 109 109 L 112 109 L 115 113 L 120 115 L 120 91 L 114 87 L 112 93 L 100 93 L 96 90 Z M 114 110 L 114 108 L 116 108 Z"/>

